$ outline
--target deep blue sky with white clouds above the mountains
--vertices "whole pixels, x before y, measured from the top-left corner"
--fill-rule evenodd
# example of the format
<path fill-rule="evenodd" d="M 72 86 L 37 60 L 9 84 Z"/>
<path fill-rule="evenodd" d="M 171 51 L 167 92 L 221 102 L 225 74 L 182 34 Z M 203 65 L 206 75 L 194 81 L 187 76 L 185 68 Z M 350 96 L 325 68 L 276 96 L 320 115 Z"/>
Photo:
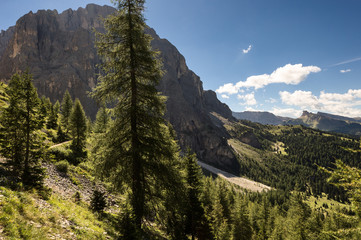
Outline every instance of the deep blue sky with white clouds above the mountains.
<path fill-rule="evenodd" d="M 91 0 L 2 0 L 0 29 Z M 147 23 L 233 111 L 361 117 L 361 1 L 148 0 Z"/>

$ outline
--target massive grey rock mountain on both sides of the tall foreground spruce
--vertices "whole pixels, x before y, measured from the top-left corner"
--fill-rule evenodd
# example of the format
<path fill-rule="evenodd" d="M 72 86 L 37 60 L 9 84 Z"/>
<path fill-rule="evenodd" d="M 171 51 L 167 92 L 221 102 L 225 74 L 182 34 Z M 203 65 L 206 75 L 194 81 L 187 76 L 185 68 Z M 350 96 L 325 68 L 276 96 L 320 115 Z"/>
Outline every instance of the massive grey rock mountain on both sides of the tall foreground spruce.
<path fill-rule="evenodd" d="M 99 16 L 114 11 L 109 6 L 89 4 L 60 14 L 40 10 L 24 15 L 14 27 L 1 32 L 0 81 L 7 82 L 14 73 L 29 68 L 39 95 L 55 102 L 69 90 L 94 117 L 97 105 L 88 92 L 97 83 L 100 59 L 93 28 L 104 31 Z M 165 117 L 173 125 L 181 148 L 191 147 L 200 160 L 238 174 L 238 160 L 227 143 L 229 134 L 219 120 L 235 121 L 231 110 L 213 91 L 203 89 L 176 47 L 153 29 L 146 31 L 154 38 L 152 47 L 161 52 L 165 75 L 159 91 L 167 96 Z"/>

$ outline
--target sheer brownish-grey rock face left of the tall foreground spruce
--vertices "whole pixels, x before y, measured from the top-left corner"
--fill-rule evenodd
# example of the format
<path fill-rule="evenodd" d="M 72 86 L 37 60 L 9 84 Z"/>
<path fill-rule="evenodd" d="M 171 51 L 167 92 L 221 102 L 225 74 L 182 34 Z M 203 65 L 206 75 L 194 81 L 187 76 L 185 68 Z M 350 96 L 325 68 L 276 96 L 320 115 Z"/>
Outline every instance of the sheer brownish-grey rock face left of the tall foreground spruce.
<path fill-rule="evenodd" d="M 26 14 L 17 21 L 3 51 L 0 47 L 0 80 L 6 82 L 15 72 L 28 68 L 40 95 L 55 102 L 68 89 L 94 115 L 96 105 L 87 97 L 96 84 L 99 63 L 92 29 L 102 28 L 99 16 L 113 11 L 91 4 L 61 14 L 50 10 Z"/>

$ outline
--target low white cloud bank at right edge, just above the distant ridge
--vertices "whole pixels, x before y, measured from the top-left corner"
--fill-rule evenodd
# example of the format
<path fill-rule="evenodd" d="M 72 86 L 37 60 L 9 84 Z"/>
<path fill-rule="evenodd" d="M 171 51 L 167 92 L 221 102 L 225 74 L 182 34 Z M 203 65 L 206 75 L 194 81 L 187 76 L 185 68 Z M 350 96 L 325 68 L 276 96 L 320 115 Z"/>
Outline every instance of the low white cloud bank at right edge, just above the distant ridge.
<path fill-rule="evenodd" d="M 350 89 L 346 93 L 326 93 L 315 96 L 309 91 L 293 93 L 279 92 L 282 103 L 309 111 L 329 112 L 348 117 L 361 117 L 361 89 Z"/>

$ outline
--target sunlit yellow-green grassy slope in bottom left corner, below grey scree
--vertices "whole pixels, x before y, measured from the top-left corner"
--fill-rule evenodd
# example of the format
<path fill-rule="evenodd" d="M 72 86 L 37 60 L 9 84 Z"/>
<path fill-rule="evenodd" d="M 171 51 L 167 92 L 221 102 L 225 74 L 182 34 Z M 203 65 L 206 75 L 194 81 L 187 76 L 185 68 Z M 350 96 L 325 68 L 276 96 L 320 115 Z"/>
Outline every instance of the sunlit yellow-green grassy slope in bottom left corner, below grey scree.
<path fill-rule="evenodd" d="M 0 229 L 4 239 L 107 239 L 114 232 L 85 203 L 57 194 L 45 201 L 5 187 L 0 187 Z"/>

